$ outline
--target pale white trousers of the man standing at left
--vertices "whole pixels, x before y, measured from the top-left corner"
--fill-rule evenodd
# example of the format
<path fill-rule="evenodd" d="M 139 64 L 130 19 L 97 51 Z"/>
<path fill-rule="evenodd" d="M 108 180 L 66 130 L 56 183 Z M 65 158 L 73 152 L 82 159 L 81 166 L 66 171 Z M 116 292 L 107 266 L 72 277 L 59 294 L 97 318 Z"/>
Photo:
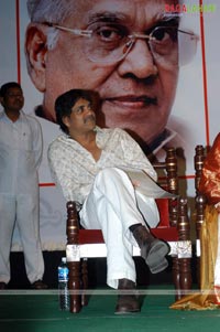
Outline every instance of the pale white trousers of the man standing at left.
<path fill-rule="evenodd" d="M 16 222 L 24 250 L 30 282 L 42 279 L 44 260 L 41 250 L 38 199 L 31 194 L 0 194 L 0 281 L 9 282 L 11 240 Z"/>

